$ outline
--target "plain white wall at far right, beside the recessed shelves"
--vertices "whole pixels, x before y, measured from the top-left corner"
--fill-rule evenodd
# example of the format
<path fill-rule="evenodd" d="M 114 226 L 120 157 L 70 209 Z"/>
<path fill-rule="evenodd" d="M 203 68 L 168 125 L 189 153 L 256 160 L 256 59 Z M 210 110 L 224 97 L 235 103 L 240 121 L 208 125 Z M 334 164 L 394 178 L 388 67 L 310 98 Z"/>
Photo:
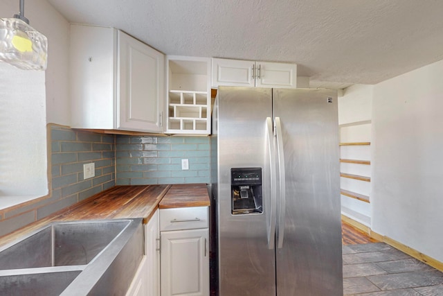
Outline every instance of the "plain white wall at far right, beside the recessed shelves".
<path fill-rule="evenodd" d="M 443 261 L 443 60 L 375 85 L 372 229 Z"/>

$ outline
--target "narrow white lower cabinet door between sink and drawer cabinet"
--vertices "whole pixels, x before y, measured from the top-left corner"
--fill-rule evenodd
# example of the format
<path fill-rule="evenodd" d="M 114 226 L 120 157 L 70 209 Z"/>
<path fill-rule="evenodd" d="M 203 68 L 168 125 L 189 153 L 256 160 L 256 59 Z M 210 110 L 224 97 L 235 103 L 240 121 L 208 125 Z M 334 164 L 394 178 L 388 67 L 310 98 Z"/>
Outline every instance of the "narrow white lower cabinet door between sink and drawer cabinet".
<path fill-rule="evenodd" d="M 159 210 L 157 210 L 145 225 L 145 254 L 147 259 L 147 296 L 160 295 L 160 231 Z"/>

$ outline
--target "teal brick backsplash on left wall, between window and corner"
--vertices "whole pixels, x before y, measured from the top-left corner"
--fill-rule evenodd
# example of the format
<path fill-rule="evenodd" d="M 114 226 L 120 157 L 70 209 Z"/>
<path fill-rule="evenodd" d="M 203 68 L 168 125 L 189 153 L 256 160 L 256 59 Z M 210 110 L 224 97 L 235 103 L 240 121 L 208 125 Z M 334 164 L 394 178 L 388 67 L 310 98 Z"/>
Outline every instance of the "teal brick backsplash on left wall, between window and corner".
<path fill-rule="evenodd" d="M 47 128 L 50 194 L 36 202 L 5 211 L 0 216 L 0 236 L 116 184 L 114 135 L 81 132 L 54 124 L 48 124 Z M 89 162 L 95 164 L 96 176 L 84 180 L 83 164 Z"/>

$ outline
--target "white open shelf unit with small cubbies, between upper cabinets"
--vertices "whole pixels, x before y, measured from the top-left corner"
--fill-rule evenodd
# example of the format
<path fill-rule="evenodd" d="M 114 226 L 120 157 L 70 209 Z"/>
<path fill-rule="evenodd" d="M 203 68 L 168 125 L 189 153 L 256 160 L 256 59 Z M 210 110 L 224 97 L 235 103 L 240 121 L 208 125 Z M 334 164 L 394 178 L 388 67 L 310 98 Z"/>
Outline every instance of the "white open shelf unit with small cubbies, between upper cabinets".
<path fill-rule="evenodd" d="M 169 134 L 210 134 L 210 59 L 168 56 Z"/>

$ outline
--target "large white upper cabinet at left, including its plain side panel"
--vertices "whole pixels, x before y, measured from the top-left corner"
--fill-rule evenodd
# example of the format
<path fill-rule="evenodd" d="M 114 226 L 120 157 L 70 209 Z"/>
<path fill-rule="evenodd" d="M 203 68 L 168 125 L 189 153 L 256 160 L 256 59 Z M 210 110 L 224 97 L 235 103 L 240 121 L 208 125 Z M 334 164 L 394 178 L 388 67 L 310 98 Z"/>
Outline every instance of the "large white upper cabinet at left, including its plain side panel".
<path fill-rule="evenodd" d="M 71 25 L 71 127 L 163 132 L 164 69 L 122 31 Z"/>

